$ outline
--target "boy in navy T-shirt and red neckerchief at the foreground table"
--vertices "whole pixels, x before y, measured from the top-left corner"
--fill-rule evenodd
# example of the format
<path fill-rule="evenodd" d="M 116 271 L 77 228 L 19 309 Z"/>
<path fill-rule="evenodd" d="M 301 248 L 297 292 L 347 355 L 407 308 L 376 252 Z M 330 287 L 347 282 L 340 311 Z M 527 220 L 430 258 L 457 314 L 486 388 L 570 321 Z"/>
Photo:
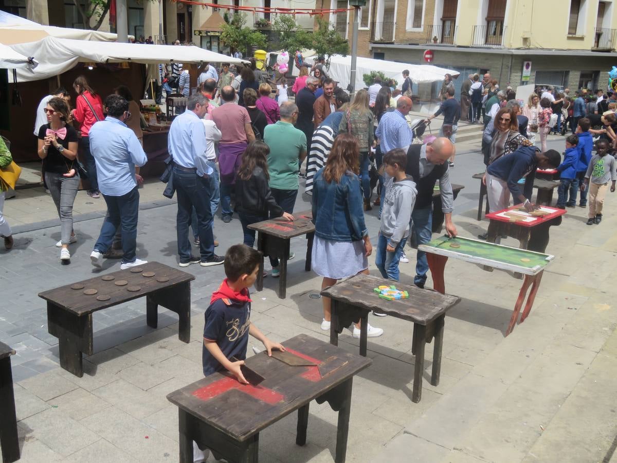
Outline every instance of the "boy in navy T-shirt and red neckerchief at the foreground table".
<path fill-rule="evenodd" d="M 225 275 L 221 286 L 212 293 L 210 307 L 205 311 L 202 363 L 204 375 L 228 370 L 242 384 L 248 384 L 240 371 L 244 365 L 249 334 L 262 341 L 271 356 L 272 349 L 284 351 L 251 323 L 249 287 L 255 283 L 262 256 L 245 244 L 231 246 L 225 254 Z M 236 357 L 238 361 L 231 361 Z"/>

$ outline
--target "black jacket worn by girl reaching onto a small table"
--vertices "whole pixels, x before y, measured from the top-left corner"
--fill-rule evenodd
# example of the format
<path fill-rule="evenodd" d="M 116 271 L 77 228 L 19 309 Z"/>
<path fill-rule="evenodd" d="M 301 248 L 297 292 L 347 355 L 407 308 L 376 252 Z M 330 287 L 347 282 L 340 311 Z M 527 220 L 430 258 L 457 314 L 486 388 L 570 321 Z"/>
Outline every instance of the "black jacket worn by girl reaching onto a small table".
<path fill-rule="evenodd" d="M 240 214 L 252 214 L 268 217 L 283 215 L 283 209 L 276 204 L 268 186 L 268 180 L 261 167 L 255 167 L 249 180 L 236 176 L 236 201 Z"/>

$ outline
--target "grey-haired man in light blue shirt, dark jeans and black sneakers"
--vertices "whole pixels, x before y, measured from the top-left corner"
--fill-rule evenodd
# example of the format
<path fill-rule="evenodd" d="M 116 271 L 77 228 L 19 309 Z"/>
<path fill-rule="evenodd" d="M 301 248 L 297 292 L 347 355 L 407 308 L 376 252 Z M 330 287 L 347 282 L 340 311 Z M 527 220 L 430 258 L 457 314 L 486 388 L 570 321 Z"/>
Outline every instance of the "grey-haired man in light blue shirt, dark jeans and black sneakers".
<path fill-rule="evenodd" d="M 208 111 L 208 99 L 201 93 L 189 97 L 186 111 L 177 116 L 169 128 L 167 148 L 173 159 L 173 186 L 178 197 L 176 231 L 180 267 L 199 263 L 202 267 L 220 265 L 223 257 L 214 254 L 210 193 L 214 188 L 213 169 L 208 165 L 205 127 L 202 118 Z M 201 257 L 191 255 L 188 238 L 193 207 L 197 213 L 199 251 Z"/>

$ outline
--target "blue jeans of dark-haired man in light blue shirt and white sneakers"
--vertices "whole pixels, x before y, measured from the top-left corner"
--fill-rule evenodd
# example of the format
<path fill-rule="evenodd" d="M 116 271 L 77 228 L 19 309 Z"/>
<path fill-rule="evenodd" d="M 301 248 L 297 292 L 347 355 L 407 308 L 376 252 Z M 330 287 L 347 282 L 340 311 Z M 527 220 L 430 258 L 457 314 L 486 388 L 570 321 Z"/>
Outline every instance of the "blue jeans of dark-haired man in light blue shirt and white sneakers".
<path fill-rule="evenodd" d="M 103 195 L 107 203 L 107 212 L 101 235 L 94 244 L 94 251 L 107 252 L 114 241 L 114 235 L 118 227 L 122 227 L 122 263 L 135 262 L 135 249 L 137 248 L 137 218 L 139 215 L 139 191 L 137 187 L 123 196 Z"/>

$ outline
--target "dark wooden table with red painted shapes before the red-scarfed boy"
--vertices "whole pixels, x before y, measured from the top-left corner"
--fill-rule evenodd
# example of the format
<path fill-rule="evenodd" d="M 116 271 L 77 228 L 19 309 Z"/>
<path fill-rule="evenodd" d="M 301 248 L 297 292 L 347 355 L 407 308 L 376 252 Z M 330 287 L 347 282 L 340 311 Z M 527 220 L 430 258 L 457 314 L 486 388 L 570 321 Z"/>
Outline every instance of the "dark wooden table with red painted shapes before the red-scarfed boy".
<path fill-rule="evenodd" d="M 321 365 L 291 366 L 262 352 L 246 361 L 265 378 L 258 386 L 242 385 L 229 373 L 214 373 L 167 395 L 178 406 L 180 463 L 193 463 L 193 441 L 217 459 L 257 462 L 259 433 L 296 410 L 296 444 L 304 445 L 313 399 L 318 404 L 328 401 L 339 412 L 335 461 L 345 461 L 352 379 L 372 361 L 307 335 L 294 336 L 283 346 L 315 364 L 323 362 L 329 372 L 322 377 Z"/>

